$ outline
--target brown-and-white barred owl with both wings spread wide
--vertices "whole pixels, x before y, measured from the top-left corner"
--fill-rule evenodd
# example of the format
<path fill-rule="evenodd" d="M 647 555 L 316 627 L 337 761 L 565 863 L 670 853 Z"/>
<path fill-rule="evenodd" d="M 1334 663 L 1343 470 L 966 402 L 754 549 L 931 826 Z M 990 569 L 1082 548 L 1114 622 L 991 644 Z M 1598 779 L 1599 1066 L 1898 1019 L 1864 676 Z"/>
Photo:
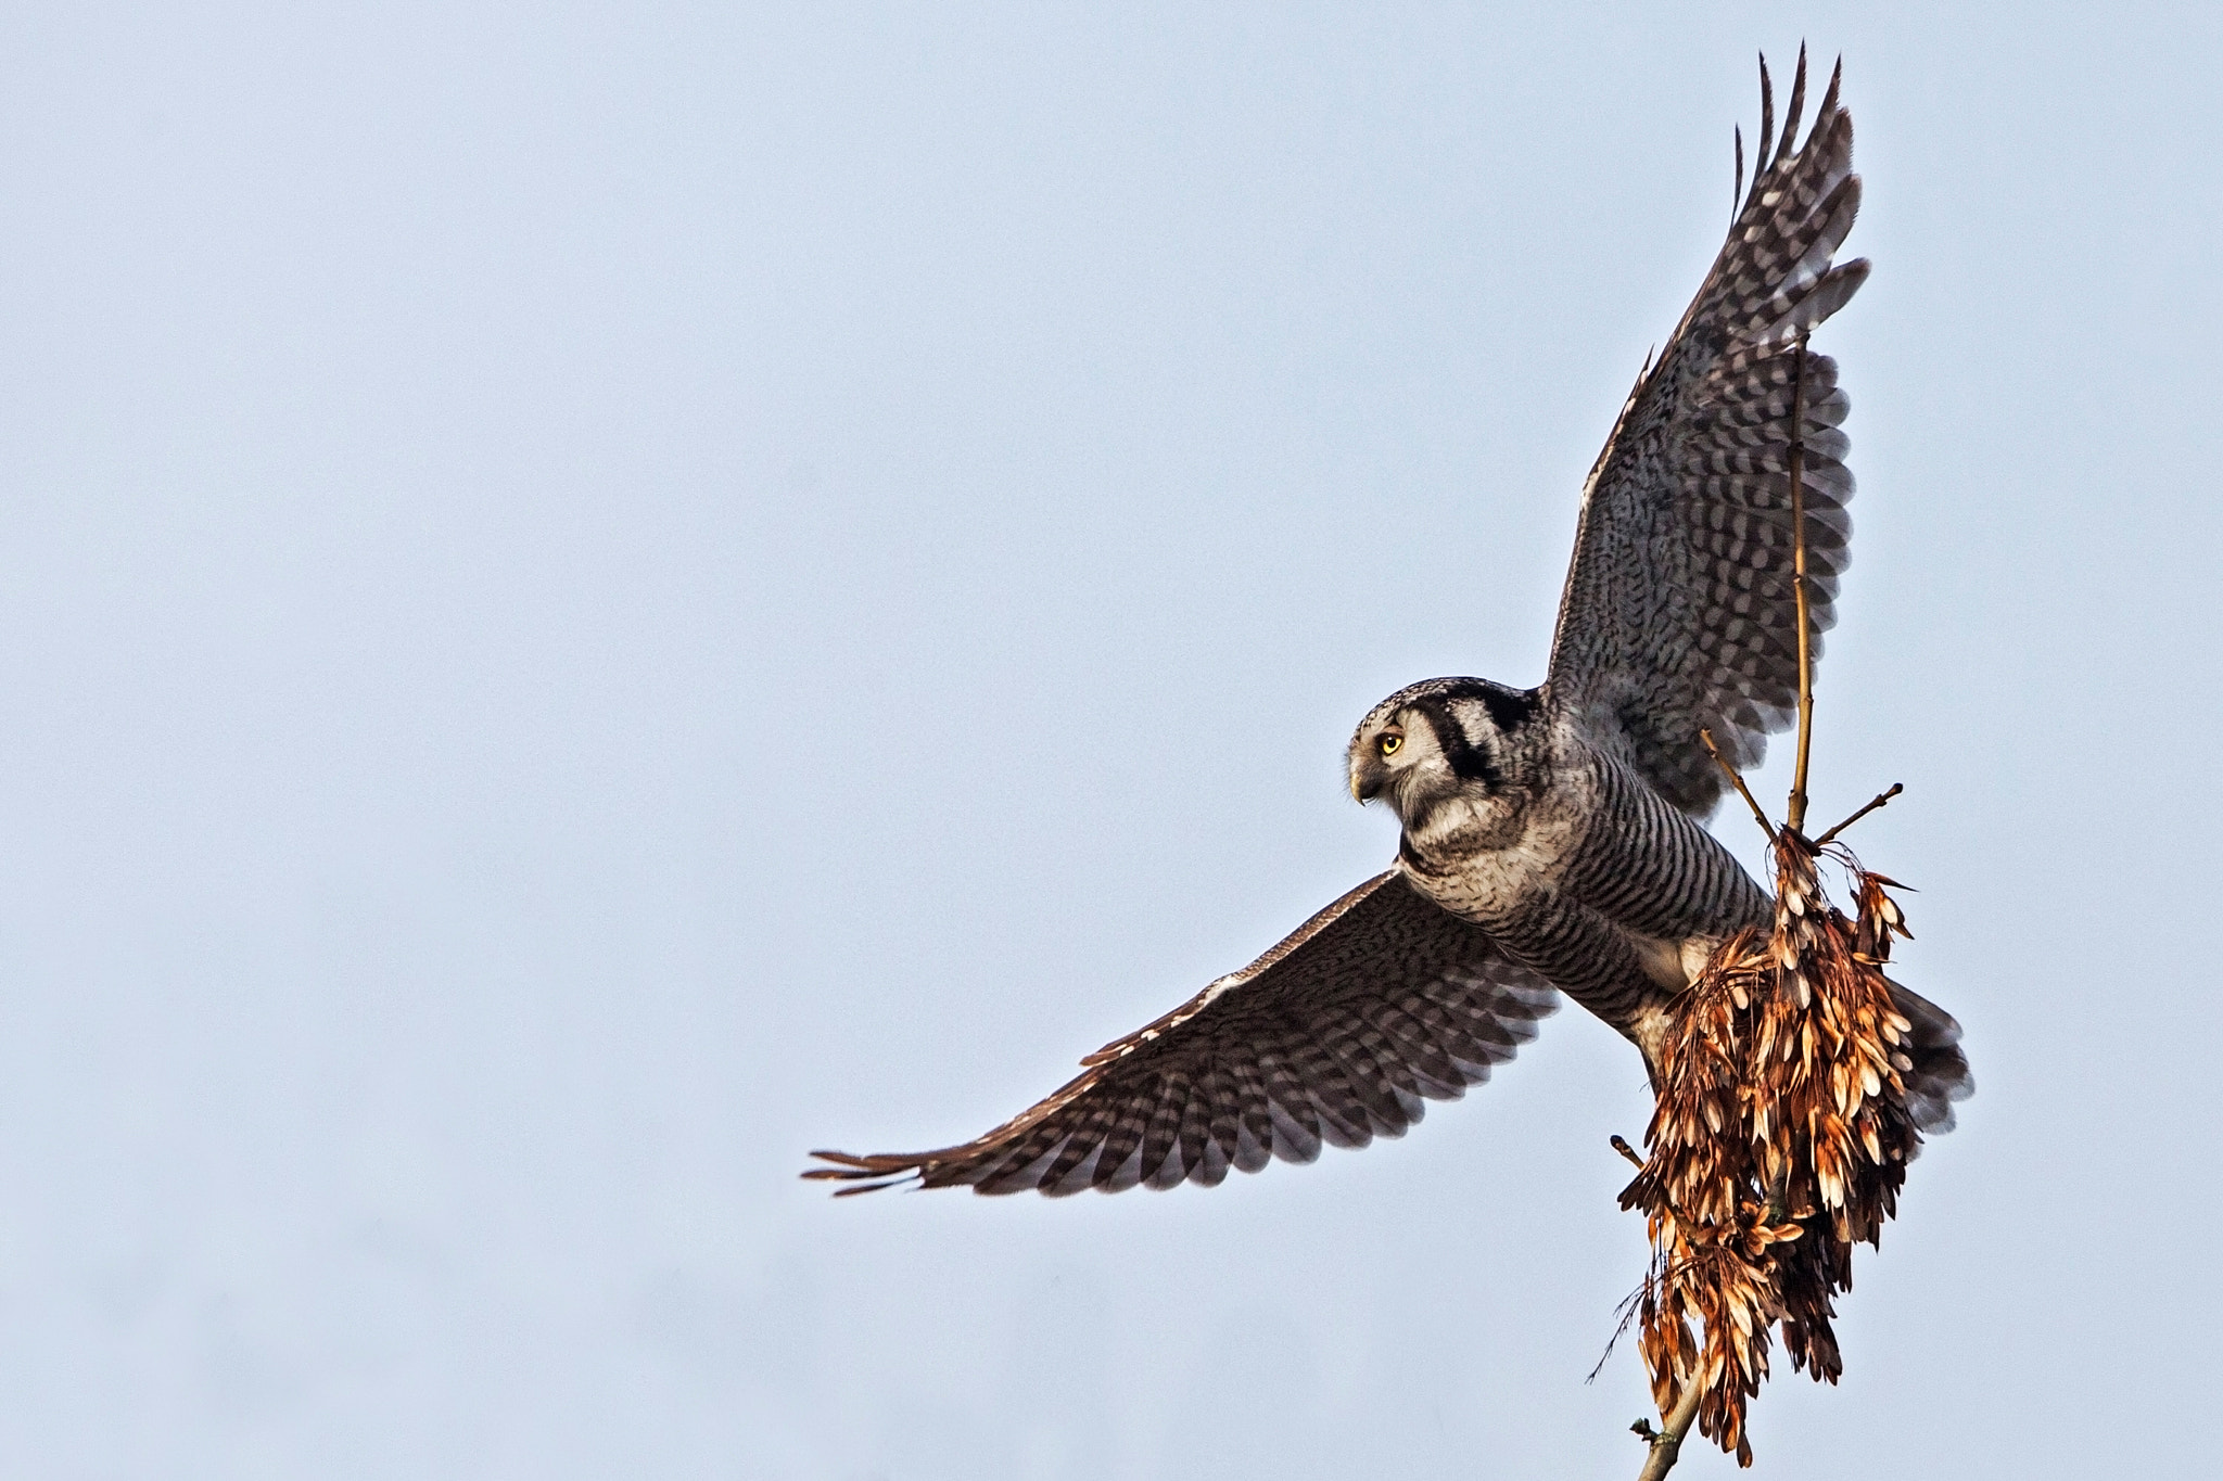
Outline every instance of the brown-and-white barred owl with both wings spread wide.
<path fill-rule="evenodd" d="M 1392 868 L 996 1130 L 931 1152 L 816 1152 L 829 1166 L 805 1177 L 843 1192 L 1214 1186 L 1403 1135 L 1512 1059 L 1561 993 L 1658 1068 L 1712 950 L 1772 921 L 1705 828 L 1725 777 L 1701 733 L 1747 768 L 1794 715 L 1794 440 L 1814 655 L 1852 533 L 1847 397 L 1805 346 L 1867 278 L 1863 260 L 1834 262 L 1861 206 L 1852 118 L 1832 73 L 1794 149 L 1801 58 L 1770 155 L 1765 67 L 1761 98 L 1729 240 L 1583 486 L 1545 682 L 1427 679 L 1352 735 L 1352 797 L 1403 824 Z M 1972 1088 L 1961 1028 L 1905 988 L 1894 1004 L 1914 1026 L 1914 1121 L 1950 1130 Z"/>

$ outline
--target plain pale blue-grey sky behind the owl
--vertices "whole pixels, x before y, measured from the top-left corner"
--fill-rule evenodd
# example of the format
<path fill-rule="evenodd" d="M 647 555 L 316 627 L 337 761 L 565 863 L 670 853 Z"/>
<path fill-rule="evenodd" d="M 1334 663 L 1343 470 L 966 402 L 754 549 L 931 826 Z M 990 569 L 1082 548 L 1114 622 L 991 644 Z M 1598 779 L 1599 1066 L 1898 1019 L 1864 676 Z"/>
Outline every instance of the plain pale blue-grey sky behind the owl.
<path fill-rule="evenodd" d="M 1801 36 L 1814 813 L 1978 1095 L 1758 1461 L 2212 1465 L 2214 9 L 380 0 L 0 16 L 0 1472 L 1634 1474 L 1581 1010 L 1216 1190 L 794 1172 L 1392 857 Z"/>

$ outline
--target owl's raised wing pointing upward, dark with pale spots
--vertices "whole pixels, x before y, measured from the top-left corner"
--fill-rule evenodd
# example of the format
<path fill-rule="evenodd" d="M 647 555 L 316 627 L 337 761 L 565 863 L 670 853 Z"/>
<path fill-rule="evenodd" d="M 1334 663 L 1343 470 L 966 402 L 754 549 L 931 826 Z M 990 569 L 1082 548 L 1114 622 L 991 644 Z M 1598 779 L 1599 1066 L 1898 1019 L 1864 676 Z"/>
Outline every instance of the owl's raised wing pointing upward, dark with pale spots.
<path fill-rule="evenodd" d="M 1678 808 L 1705 815 L 1723 777 L 1698 731 L 1756 766 L 1798 702 L 1792 591 L 1792 397 L 1801 417 L 1807 597 L 1834 622 L 1847 562 L 1852 473 L 1836 362 L 1803 349 L 1845 306 L 1867 262 L 1832 266 L 1861 206 L 1838 78 L 1801 149 L 1805 53 L 1767 155 L 1761 67 L 1752 191 L 1698 298 L 1647 364 L 1583 491 L 1574 564 L 1552 642 L 1549 704 L 1625 755 Z M 1803 369 L 1801 369 L 1803 362 Z"/>

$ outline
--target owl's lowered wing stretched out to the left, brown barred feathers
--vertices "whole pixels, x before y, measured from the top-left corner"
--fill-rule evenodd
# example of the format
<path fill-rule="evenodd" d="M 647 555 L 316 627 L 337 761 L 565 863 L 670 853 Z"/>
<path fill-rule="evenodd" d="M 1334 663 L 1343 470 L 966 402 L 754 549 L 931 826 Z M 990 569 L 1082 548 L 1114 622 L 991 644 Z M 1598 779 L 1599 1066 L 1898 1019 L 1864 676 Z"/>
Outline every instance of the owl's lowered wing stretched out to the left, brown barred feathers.
<path fill-rule="evenodd" d="M 1107 1044 L 1083 1075 L 965 1146 L 811 1152 L 803 1177 L 869 1192 L 925 1188 L 1049 1195 L 1136 1183 L 1207 1188 L 1269 1157 L 1400 1137 L 1423 1101 L 1489 1079 L 1552 1012 L 1552 986 L 1489 933 L 1423 899 L 1398 870 L 1327 906 L 1240 973 Z"/>

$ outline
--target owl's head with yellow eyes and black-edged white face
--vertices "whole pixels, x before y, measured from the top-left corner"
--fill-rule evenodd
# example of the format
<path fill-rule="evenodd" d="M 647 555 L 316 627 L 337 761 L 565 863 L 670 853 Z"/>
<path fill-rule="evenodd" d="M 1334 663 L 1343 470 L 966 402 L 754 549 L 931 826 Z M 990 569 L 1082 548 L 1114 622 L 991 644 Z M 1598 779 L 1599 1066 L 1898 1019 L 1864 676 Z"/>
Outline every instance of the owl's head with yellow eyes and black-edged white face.
<path fill-rule="evenodd" d="M 1427 679 L 1396 691 L 1358 722 L 1345 757 L 1352 797 L 1385 797 L 1414 828 L 1447 797 L 1489 795 L 1514 768 L 1512 733 L 1536 713 L 1532 691 L 1489 679 Z"/>

